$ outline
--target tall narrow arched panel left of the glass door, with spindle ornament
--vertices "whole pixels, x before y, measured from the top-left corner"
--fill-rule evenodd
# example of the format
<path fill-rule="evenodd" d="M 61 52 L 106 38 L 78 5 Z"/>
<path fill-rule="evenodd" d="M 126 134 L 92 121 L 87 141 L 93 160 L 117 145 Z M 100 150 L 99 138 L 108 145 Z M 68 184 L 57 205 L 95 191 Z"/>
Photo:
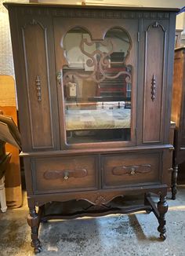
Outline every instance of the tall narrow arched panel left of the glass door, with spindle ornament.
<path fill-rule="evenodd" d="M 32 147 L 53 148 L 46 29 L 27 24 L 22 36 Z"/>

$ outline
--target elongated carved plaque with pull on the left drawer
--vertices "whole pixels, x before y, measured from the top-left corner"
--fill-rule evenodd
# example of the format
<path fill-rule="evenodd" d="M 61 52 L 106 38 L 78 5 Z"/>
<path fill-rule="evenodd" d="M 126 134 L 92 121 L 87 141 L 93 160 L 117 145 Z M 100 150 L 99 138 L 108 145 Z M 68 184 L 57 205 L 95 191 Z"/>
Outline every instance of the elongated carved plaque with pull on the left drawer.
<path fill-rule="evenodd" d="M 67 181 L 70 177 L 85 177 L 87 176 L 87 170 L 75 169 L 75 170 L 46 170 L 44 177 L 46 180 L 63 179 Z"/>

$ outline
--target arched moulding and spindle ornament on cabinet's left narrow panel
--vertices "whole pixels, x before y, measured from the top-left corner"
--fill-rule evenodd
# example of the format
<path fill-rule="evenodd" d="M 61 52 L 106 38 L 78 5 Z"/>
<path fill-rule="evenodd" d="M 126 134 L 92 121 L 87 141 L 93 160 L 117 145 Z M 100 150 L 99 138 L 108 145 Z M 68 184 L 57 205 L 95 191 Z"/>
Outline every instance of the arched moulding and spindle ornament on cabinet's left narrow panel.
<path fill-rule="evenodd" d="M 50 117 L 50 123 L 51 123 L 51 145 L 48 146 L 35 146 L 34 145 L 34 132 L 33 132 L 33 122 L 32 122 L 32 115 L 31 115 L 31 97 L 29 93 L 29 82 L 28 82 L 28 68 L 27 68 L 27 50 L 26 50 L 26 41 L 25 41 L 25 29 L 27 26 L 39 26 L 44 31 L 44 40 L 45 40 L 45 60 L 46 60 L 46 69 L 47 69 L 47 82 L 48 82 L 48 94 L 49 94 L 49 117 Z M 50 92 L 50 78 L 49 78 L 49 54 L 48 54 L 48 42 L 47 42 L 47 28 L 44 27 L 40 22 L 37 20 L 32 19 L 30 22 L 27 22 L 24 24 L 23 27 L 21 27 L 22 31 L 22 42 L 23 42 L 23 48 L 24 48 L 24 64 L 25 64 L 25 75 L 26 75 L 26 84 L 27 84 L 27 97 L 28 97 L 28 111 L 29 111 L 29 119 L 31 123 L 31 144 L 33 149 L 39 149 L 39 148 L 54 148 L 54 139 L 53 139 L 53 116 L 52 116 L 52 106 L 51 106 L 51 92 Z M 36 78 L 37 80 L 37 78 Z M 40 80 L 40 79 L 39 79 Z M 35 81 L 36 82 L 36 81 Z M 39 85 L 38 85 L 38 93 L 39 93 Z M 38 96 L 38 101 L 41 100 L 41 97 Z"/>

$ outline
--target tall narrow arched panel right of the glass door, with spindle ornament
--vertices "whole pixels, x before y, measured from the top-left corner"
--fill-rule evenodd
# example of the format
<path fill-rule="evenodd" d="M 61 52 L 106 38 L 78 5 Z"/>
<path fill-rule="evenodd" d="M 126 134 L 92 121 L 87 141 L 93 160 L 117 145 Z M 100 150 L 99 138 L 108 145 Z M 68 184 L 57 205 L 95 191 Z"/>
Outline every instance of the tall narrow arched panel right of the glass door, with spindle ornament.
<path fill-rule="evenodd" d="M 161 141 L 166 32 L 157 22 L 145 31 L 143 143 Z"/>

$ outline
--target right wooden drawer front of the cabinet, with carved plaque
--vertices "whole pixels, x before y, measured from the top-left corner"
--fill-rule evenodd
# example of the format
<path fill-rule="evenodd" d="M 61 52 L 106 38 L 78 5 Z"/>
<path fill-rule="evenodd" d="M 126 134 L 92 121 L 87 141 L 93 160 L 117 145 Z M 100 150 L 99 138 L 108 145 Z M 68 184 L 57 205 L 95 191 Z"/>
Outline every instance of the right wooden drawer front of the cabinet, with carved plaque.
<path fill-rule="evenodd" d="M 103 188 L 159 184 L 160 153 L 102 156 Z"/>

